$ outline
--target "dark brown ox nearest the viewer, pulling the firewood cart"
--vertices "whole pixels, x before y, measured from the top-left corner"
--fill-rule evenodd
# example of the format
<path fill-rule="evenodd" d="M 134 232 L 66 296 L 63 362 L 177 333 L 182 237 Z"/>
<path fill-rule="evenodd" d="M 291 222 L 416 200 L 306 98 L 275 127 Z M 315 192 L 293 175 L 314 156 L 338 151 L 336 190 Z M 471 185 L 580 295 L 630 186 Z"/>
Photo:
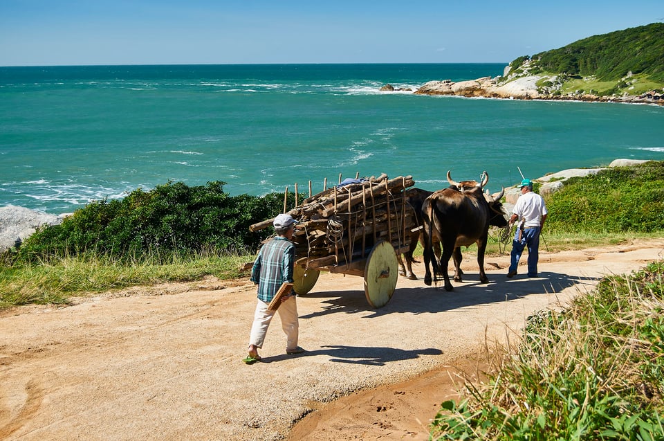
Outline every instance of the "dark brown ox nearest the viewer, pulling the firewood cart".
<path fill-rule="evenodd" d="M 445 188 L 434 192 L 425 199 L 422 205 L 424 221 L 424 263 L 425 285 L 431 285 L 432 277 L 430 264 L 434 273 L 443 273 L 445 289 L 452 291 L 452 283 L 448 276 L 450 257 L 454 257 L 454 281 L 461 282 L 461 246 L 477 244 L 477 264 L 479 265 L 479 280 L 488 282 L 484 272 L 484 251 L 488 239 L 489 225 L 504 227 L 507 225 L 500 198 L 504 189 L 495 195 L 487 195 L 482 187 L 488 183 L 488 174 L 483 173 L 481 183 L 475 181 L 452 181 L 448 172 L 448 181 L 451 186 L 459 190 Z M 443 243 L 443 254 L 440 262 L 432 259 L 432 237 L 439 237 Z"/>

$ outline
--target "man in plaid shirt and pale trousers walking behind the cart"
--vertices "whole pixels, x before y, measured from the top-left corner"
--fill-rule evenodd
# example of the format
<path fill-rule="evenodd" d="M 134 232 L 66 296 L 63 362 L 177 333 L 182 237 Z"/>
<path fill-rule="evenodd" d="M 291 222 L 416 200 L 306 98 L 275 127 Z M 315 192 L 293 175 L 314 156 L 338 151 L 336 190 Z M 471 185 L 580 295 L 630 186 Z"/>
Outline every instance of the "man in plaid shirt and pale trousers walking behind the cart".
<path fill-rule="evenodd" d="M 259 361 L 258 349 L 263 347 L 265 336 L 275 311 L 268 306 L 283 283 L 293 283 L 295 245 L 291 242 L 295 231 L 295 219 L 291 215 L 278 215 L 273 222 L 277 235 L 264 244 L 251 269 L 251 281 L 258 285 L 258 302 L 254 322 L 249 336 L 249 355 L 243 361 L 247 364 Z M 279 318 L 286 334 L 286 354 L 299 354 L 304 349 L 297 345 L 299 333 L 295 292 L 282 299 Z"/>

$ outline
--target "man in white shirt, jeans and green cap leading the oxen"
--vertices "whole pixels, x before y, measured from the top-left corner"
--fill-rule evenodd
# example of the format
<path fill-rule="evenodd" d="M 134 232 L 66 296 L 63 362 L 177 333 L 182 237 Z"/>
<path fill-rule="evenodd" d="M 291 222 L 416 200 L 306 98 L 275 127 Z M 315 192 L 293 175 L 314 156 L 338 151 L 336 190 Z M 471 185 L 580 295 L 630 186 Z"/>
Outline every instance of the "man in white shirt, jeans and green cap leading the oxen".
<path fill-rule="evenodd" d="M 514 234 L 510 270 L 507 276 L 516 276 L 519 259 L 524 248 L 528 246 L 528 277 L 537 277 L 537 261 L 540 260 L 540 233 L 548 212 L 542 196 L 533 192 L 533 182 L 530 179 L 521 181 L 519 188 L 521 188 L 521 196 L 512 210 L 510 226 L 517 222 L 517 219 L 522 220 Z"/>

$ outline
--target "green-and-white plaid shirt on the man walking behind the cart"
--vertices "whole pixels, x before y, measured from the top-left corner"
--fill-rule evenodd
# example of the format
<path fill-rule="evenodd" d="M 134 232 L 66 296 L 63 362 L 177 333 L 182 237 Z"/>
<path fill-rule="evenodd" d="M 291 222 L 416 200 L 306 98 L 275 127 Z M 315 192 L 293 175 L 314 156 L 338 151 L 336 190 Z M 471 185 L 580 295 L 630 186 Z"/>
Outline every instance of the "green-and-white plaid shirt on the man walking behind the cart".
<path fill-rule="evenodd" d="M 251 281 L 258 284 L 258 298 L 270 303 L 284 282 L 293 283 L 295 245 L 277 236 L 264 244 L 251 269 Z"/>

